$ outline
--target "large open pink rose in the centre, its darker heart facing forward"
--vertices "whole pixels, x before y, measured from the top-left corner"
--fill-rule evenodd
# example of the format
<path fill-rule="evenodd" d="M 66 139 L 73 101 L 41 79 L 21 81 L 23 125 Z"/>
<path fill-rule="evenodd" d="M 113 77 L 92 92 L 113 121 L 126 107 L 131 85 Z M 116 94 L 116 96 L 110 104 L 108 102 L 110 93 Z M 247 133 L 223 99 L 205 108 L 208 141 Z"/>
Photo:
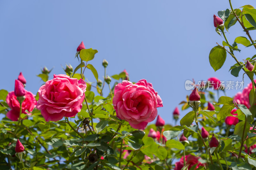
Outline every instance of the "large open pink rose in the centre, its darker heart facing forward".
<path fill-rule="evenodd" d="M 162 103 L 152 84 L 144 79 L 135 84 L 124 80 L 115 87 L 113 105 L 116 116 L 135 129 L 145 130 L 148 122 L 156 118 L 156 108 L 163 107 Z"/>

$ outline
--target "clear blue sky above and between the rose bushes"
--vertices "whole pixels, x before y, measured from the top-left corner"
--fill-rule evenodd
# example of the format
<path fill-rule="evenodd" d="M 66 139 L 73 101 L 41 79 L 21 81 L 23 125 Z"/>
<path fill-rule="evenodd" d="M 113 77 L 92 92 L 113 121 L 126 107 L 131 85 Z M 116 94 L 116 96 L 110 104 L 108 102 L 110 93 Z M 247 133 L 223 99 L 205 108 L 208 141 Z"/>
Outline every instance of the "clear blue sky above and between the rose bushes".
<path fill-rule="evenodd" d="M 234 8 L 246 4 L 256 7 L 255 0 L 233 0 Z M 228 72 L 235 64 L 231 56 L 216 72 L 209 63 L 210 50 L 223 40 L 215 32 L 213 14 L 227 8 L 228 0 L 0 1 L 0 89 L 12 91 L 21 71 L 26 89 L 36 94 L 43 84 L 36 77 L 40 68 L 54 67 L 50 79 L 64 74 L 65 63 L 75 68 L 76 48 L 84 41 L 86 48 L 99 51 L 90 63 L 101 80 L 103 59 L 108 60 L 110 76 L 126 69 L 131 81 L 147 79 L 163 100 L 158 113 L 173 124 L 172 111 L 190 94 L 184 87 L 186 80 L 242 80 L 242 73 L 236 78 Z M 237 36 L 246 36 L 239 25 L 229 32 L 232 43 Z M 256 39 L 255 31 L 251 35 Z M 238 48 L 242 51 L 235 54 L 240 61 L 255 54 L 253 47 Z M 86 74 L 94 81 L 88 70 Z M 248 82 L 245 77 L 245 85 Z"/>

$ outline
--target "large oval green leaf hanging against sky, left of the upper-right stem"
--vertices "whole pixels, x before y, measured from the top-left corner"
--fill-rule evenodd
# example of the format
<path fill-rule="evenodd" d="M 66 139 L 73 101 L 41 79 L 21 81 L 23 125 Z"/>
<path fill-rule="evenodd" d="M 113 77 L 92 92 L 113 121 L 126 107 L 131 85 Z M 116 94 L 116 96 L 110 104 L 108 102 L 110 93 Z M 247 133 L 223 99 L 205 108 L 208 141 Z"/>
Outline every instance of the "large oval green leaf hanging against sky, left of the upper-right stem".
<path fill-rule="evenodd" d="M 209 61 L 214 71 L 219 70 L 223 66 L 226 57 L 227 53 L 224 47 L 215 46 L 212 48 L 209 54 Z"/>

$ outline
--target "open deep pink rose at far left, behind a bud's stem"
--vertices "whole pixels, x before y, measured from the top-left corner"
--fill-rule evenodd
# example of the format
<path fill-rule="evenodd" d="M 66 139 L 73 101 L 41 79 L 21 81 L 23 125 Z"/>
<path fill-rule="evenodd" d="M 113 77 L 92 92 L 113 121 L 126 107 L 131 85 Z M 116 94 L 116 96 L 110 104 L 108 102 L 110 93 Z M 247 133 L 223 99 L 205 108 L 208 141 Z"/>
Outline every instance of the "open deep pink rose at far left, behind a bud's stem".
<path fill-rule="evenodd" d="M 32 110 L 36 107 L 36 95 L 33 95 L 30 91 L 25 90 L 24 96 L 25 100 L 21 105 L 21 113 L 31 115 L 31 113 L 28 112 L 32 112 Z M 11 110 L 7 112 L 6 116 L 12 121 L 18 121 L 18 118 L 20 117 L 20 103 L 17 100 L 17 96 L 14 95 L 14 91 L 8 93 L 6 96 L 6 103 L 11 108 Z M 28 112 L 25 110 L 28 110 Z"/>

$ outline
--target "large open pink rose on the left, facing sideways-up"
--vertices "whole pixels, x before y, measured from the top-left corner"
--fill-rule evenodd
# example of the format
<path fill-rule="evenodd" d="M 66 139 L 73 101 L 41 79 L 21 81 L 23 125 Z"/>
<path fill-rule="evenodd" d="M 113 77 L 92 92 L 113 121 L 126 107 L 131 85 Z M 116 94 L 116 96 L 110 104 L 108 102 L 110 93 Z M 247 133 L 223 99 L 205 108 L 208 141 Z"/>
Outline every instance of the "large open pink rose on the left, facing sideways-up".
<path fill-rule="evenodd" d="M 85 89 L 83 79 L 78 81 L 65 74 L 54 74 L 53 79 L 38 90 L 36 108 L 47 122 L 73 117 L 81 111 Z"/>

